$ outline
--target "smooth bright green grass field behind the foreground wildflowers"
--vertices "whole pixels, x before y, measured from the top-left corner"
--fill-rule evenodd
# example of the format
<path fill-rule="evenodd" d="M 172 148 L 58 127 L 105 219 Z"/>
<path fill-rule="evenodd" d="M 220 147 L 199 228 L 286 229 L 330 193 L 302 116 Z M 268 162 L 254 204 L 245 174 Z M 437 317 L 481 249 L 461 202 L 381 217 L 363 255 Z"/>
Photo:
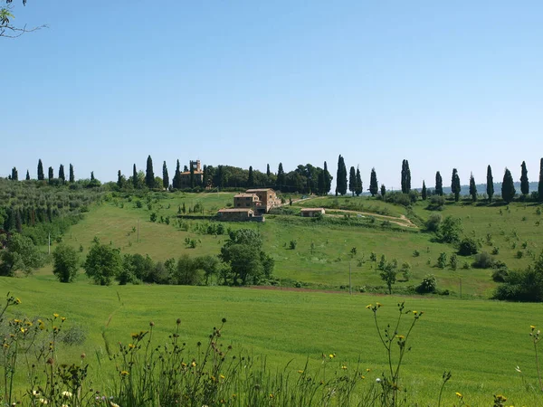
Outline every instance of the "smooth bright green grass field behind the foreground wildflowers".
<path fill-rule="evenodd" d="M 541 394 L 527 391 L 515 372 L 519 365 L 526 381 L 536 385 L 529 325 L 541 325 L 543 305 L 443 298 L 373 297 L 366 294 L 327 294 L 224 287 L 93 286 L 80 279 L 63 285 L 52 276 L 27 279 L 0 278 L 0 291 L 11 291 L 23 303 L 11 308 L 28 317 L 68 317 L 88 333 L 81 346 L 62 349 L 59 360 L 79 361 L 85 352 L 97 383 L 97 356 L 105 357 L 102 333 L 114 346 L 129 342 L 131 332 L 156 324 L 161 343 L 182 319 L 182 339 L 189 346 L 205 341 L 222 317 L 224 343 L 252 355 L 265 355 L 271 368 L 296 372 L 306 358 L 320 363 L 321 354 L 336 353 L 334 363 L 371 368 L 367 380 L 375 380 L 385 368 L 386 354 L 376 336 L 373 314 L 365 307 L 381 302 L 382 327 L 396 316 L 395 305 L 406 301 L 408 309 L 424 311 L 414 327 L 412 352 L 405 358 L 404 383 L 412 401 L 436 405 L 443 371 L 452 371 L 443 405 L 452 405 L 455 392 L 470 405 L 490 405 L 492 394 L 508 396 L 508 405 L 538 405 Z M 106 327 L 106 325 L 109 325 Z M 400 332 L 400 334 L 403 332 Z M 107 358 L 106 358 L 107 359 Z M 104 374 L 102 368 L 100 374 Z M 23 383 L 19 375 L 19 383 Z M 509 404 L 510 402 L 510 404 Z"/>

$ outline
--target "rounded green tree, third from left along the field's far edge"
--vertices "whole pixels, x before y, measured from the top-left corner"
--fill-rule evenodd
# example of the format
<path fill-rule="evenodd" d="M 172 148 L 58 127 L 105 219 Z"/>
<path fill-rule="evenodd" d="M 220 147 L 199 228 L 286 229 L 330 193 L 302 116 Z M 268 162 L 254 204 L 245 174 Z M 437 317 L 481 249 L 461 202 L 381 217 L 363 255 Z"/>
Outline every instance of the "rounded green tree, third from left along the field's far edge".
<path fill-rule="evenodd" d="M 120 250 L 109 244 L 94 243 L 85 264 L 85 274 L 100 286 L 109 286 L 122 271 Z"/>

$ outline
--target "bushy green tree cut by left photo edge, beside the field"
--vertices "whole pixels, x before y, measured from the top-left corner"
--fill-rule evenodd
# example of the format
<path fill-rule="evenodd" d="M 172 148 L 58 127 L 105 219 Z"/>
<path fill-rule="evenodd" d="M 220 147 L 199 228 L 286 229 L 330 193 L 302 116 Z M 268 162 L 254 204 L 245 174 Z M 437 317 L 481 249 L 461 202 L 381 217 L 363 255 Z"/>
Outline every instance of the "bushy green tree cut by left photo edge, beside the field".
<path fill-rule="evenodd" d="M 19 233 L 12 233 L 5 249 L 0 250 L 0 276 L 13 277 L 18 270 L 28 275 L 44 263 L 43 253 L 29 237 Z"/>

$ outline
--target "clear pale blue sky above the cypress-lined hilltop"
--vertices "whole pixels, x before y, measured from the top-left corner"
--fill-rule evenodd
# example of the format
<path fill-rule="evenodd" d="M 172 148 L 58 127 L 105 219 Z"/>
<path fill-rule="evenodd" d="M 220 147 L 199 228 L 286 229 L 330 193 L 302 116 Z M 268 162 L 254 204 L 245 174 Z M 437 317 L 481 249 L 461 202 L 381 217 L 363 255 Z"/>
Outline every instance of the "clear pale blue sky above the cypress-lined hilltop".
<path fill-rule="evenodd" d="M 0 2 L 1 3 L 1 2 Z M 338 155 L 399 189 L 516 181 L 543 156 L 543 2 L 14 0 L 0 175 L 167 162 L 289 172 Z M 332 187 L 333 189 L 334 187 Z"/>

